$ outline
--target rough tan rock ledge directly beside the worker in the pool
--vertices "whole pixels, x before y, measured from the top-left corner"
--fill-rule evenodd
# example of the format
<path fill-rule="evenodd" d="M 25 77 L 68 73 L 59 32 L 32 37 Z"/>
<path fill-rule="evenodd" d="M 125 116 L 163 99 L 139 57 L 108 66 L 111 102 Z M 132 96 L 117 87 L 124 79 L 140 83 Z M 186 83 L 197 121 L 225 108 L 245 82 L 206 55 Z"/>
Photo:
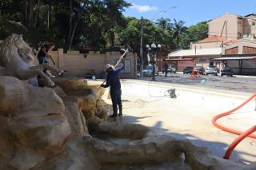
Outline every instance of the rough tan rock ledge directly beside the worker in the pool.
<path fill-rule="evenodd" d="M 106 120 L 107 113 L 111 112 L 111 105 L 102 100 L 105 89 L 99 88 L 100 82 L 86 81 L 78 77 L 58 78 L 55 84 L 61 87 L 69 97 L 73 97 L 79 110 L 86 118 L 91 131 Z"/>

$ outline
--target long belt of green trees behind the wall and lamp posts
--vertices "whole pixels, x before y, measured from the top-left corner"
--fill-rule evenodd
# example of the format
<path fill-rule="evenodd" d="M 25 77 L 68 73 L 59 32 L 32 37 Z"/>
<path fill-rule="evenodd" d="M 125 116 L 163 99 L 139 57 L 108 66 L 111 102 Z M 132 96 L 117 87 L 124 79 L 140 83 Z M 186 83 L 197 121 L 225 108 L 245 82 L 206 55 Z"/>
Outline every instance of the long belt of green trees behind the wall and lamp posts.
<path fill-rule="evenodd" d="M 130 5 L 125 0 L 0 1 L 0 39 L 16 33 L 24 34 L 36 48 L 43 42 L 53 42 L 59 48 L 90 46 L 102 51 L 130 46 L 139 53 L 142 22 L 122 14 Z M 190 42 L 207 37 L 206 22 L 188 28 L 184 24 L 169 18 L 159 18 L 156 23 L 144 19 L 143 46 L 161 44 L 167 53 L 175 48 L 187 49 Z"/>

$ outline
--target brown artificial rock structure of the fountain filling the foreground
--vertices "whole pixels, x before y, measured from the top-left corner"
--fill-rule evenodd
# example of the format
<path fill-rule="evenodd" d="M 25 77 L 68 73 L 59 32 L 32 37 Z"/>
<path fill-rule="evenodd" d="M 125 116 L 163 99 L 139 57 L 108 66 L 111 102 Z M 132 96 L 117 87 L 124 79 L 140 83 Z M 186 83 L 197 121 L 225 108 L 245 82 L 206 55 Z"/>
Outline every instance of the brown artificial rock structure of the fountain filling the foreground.
<path fill-rule="evenodd" d="M 58 77 L 56 87 L 41 88 L 6 70 L 0 68 L 0 169 L 256 169 L 189 140 L 106 121 L 110 105 L 100 82 Z"/>

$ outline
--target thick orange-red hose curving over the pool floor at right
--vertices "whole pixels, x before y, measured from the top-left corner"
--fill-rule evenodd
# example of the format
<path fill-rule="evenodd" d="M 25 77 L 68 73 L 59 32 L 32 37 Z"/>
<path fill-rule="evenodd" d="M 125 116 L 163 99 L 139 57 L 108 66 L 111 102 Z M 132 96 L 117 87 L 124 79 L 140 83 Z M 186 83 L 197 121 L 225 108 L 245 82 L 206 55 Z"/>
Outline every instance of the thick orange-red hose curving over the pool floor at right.
<path fill-rule="evenodd" d="M 233 134 L 236 134 L 236 135 L 239 135 L 233 142 L 232 144 L 230 144 L 230 147 L 226 150 L 226 154 L 225 156 L 223 157 L 224 159 L 227 159 L 229 160 L 230 159 L 230 155 L 231 153 L 233 152 L 234 148 L 244 139 L 246 138 L 247 136 L 251 137 L 251 138 L 254 138 L 256 139 L 256 135 L 252 135 L 253 132 L 256 131 L 256 125 L 253 126 L 252 128 L 249 128 L 248 130 L 246 130 L 246 132 L 242 132 L 242 131 L 238 131 L 238 130 L 234 130 L 232 128 L 226 128 L 225 126 L 222 126 L 222 125 L 218 125 L 217 123 L 217 120 L 221 117 L 226 117 L 227 115 L 230 115 L 232 113 L 234 113 L 235 111 L 237 111 L 238 109 L 242 108 L 242 106 L 246 105 L 249 101 L 253 100 L 254 97 L 256 97 L 256 94 L 254 94 L 253 96 L 251 96 L 249 99 L 247 99 L 245 102 L 242 103 L 242 105 L 238 105 L 238 107 L 236 107 L 235 109 L 232 109 L 226 113 L 221 113 L 217 116 L 215 116 L 213 119 L 212 119 L 212 123 L 213 125 L 216 127 L 216 128 L 219 128 L 223 131 L 226 131 L 226 132 L 230 132 L 230 133 L 233 133 Z"/>

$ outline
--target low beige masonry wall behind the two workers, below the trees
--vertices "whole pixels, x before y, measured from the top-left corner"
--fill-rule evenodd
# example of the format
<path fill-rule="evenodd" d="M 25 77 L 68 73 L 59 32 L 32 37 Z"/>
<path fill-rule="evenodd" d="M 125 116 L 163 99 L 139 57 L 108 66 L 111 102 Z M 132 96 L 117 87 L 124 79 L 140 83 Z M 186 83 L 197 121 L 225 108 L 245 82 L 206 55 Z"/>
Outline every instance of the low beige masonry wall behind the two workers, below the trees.
<path fill-rule="evenodd" d="M 87 55 L 78 51 L 63 53 L 63 49 L 50 51 L 49 53 L 53 57 L 56 67 L 66 71 L 66 76 L 86 77 L 86 74 L 96 73 L 97 78 L 104 78 L 105 65 L 115 65 L 122 55 L 119 52 L 90 52 Z M 38 64 L 38 60 L 35 61 L 35 64 Z M 53 65 L 53 62 L 50 61 L 50 64 Z M 122 71 L 120 77 L 136 77 L 137 67 L 135 65 L 137 65 L 137 55 L 135 53 L 128 53 L 126 56 L 126 69 Z"/>

